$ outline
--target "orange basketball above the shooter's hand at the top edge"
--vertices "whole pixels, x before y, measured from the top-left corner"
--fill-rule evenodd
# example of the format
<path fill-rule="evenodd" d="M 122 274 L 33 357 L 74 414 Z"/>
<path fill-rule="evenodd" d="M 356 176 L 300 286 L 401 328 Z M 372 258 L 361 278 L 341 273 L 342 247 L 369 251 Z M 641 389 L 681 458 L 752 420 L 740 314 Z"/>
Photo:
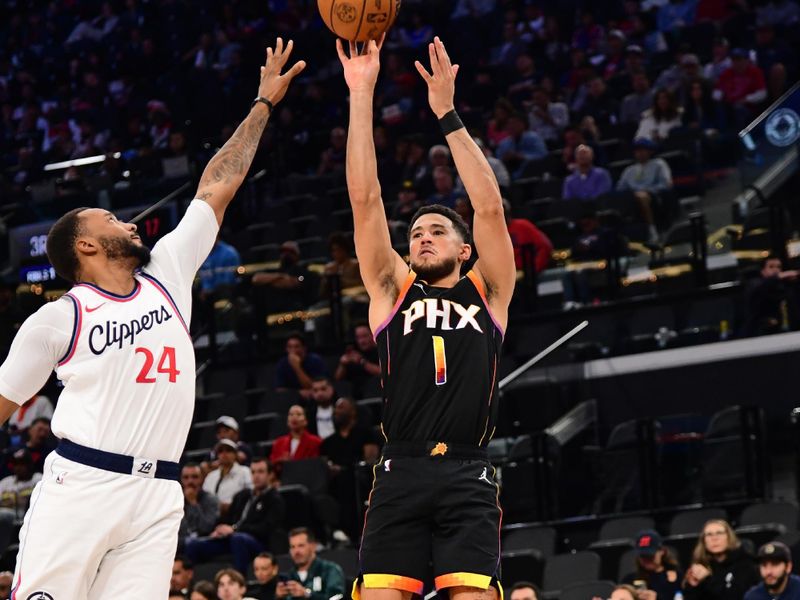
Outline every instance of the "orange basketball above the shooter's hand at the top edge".
<path fill-rule="evenodd" d="M 317 0 L 325 25 L 351 42 L 377 40 L 394 23 L 400 0 Z"/>

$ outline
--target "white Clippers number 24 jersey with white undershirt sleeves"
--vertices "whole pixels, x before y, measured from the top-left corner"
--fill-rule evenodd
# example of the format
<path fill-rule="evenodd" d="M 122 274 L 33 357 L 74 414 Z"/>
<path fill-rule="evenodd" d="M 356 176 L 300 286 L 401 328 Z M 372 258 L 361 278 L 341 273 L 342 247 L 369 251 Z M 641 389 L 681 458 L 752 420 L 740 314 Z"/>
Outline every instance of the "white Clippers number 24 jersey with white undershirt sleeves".
<path fill-rule="evenodd" d="M 125 297 L 78 284 L 29 317 L 0 367 L 0 394 L 24 403 L 55 368 L 53 433 L 129 456 L 178 461 L 191 426 L 191 285 L 214 245 L 213 209 L 195 200 L 153 248 Z"/>

